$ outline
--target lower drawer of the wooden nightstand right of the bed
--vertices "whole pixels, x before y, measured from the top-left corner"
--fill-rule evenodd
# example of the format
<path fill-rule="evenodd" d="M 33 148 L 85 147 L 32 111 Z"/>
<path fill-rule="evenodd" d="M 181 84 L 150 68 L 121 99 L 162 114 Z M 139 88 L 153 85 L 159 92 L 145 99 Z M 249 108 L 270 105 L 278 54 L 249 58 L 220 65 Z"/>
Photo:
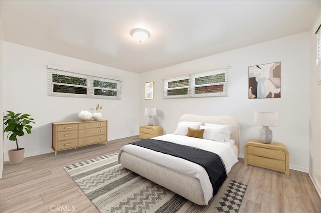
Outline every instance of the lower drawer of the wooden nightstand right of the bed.
<path fill-rule="evenodd" d="M 276 160 L 248 154 L 247 162 L 252 165 L 285 172 L 285 160 Z"/>

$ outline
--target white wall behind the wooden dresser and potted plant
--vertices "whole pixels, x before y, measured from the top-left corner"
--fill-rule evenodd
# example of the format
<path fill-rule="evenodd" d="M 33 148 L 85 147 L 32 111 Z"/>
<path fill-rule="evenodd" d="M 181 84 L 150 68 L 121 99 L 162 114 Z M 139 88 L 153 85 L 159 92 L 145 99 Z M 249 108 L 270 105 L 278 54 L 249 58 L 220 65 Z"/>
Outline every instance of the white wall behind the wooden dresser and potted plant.
<path fill-rule="evenodd" d="M 20 137 L 25 157 L 51 152 L 51 122 L 78 120 L 81 110 L 104 107 L 108 140 L 137 135 L 139 129 L 139 75 L 10 42 L 3 42 L 3 110 L 31 114 L 36 124 L 32 134 Z M 88 99 L 47 96 L 47 65 L 96 73 L 123 80 L 122 99 Z M 6 136 L 6 135 L 5 135 Z M 7 150 L 15 143 L 5 141 Z"/>

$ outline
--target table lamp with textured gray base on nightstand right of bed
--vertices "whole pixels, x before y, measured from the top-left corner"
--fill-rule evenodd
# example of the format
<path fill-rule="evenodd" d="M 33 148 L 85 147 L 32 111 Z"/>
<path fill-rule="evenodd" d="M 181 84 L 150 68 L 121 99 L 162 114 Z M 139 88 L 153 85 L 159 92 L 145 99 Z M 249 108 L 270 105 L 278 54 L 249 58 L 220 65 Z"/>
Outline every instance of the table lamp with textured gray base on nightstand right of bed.
<path fill-rule="evenodd" d="M 272 130 L 269 126 L 277 126 L 277 112 L 254 112 L 254 125 L 260 125 L 260 141 L 262 143 L 271 143 L 273 138 Z"/>

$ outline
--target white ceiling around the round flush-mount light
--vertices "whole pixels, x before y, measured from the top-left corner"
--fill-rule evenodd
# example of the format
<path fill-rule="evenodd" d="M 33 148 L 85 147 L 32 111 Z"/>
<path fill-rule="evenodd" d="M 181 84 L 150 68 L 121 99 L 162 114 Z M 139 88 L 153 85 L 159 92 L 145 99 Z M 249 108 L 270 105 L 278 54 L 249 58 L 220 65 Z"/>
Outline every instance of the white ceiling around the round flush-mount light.
<path fill-rule="evenodd" d="M 309 31 L 320 2 L 0 0 L 0 20 L 5 41 L 141 73 Z"/>

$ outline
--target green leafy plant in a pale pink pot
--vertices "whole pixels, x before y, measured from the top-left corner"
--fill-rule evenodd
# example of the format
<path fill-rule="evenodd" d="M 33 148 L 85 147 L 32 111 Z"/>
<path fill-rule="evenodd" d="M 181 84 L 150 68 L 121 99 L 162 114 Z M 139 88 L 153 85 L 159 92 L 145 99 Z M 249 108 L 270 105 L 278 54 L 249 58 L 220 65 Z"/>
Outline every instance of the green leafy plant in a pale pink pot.
<path fill-rule="evenodd" d="M 25 149 L 18 147 L 18 136 L 23 136 L 25 132 L 31 134 L 31 123 L 35 123 L 33 118 L 28 114 L 15 114 L 12 111 L 7 111 L 8 114 L 4 116 L 4 132 L 8 132 L 7 139 L 16 141 L 17 149 L 8 151 L 9 163 L 18 164 L 24 160 Z M 25 131 L 25 132 L 24 132 Z"/>

